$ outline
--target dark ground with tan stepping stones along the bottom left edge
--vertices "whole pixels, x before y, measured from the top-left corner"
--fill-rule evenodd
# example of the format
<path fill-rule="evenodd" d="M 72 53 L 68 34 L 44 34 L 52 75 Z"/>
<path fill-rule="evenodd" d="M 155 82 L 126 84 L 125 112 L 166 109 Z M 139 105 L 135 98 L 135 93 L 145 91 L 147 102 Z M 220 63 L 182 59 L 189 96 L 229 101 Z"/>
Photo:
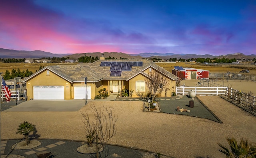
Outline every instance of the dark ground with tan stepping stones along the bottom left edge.
<path fill-rule="evenodd" d="M 11 146 L 20 142 L 20 140 L 1 141 L 1 158 L 37 158 L 36 153 L 41 151 L 51 152 L 50 158 L 92 158 L 95 154 L 81 154 L 76 151 L 84 142 L 69 140 L 40 139 L 41 145 L 27 150 L 12 150 Z M 106 150 L 101 152 L 102 157 L 108 158 L 155 158 L 156 154 L 145 150 L 136 150 L 122 146 L 106 145 Z M 20 157 L 15 157 L 19 155 Z"/>

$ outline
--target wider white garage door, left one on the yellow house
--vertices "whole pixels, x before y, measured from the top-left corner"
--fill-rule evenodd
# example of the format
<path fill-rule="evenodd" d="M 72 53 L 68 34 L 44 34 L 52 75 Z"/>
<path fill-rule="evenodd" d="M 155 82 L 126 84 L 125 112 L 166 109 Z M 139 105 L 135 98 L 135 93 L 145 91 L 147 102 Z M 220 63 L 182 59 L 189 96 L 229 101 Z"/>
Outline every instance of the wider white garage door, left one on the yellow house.
<path fill-rule="evenodd" d="M 34 86 L 34 100 L 63 100 L 64 86 Z"/>

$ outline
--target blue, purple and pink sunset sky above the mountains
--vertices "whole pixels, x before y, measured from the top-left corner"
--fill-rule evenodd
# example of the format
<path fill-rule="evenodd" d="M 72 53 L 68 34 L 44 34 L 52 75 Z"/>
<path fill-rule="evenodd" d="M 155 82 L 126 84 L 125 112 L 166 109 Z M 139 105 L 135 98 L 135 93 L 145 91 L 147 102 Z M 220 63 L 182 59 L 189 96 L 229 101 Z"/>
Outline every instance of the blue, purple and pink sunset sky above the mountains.
<path fill-rule="evenodd" d="M 0 48 L 256 54 L 256 0 L 1 0 Z"/>

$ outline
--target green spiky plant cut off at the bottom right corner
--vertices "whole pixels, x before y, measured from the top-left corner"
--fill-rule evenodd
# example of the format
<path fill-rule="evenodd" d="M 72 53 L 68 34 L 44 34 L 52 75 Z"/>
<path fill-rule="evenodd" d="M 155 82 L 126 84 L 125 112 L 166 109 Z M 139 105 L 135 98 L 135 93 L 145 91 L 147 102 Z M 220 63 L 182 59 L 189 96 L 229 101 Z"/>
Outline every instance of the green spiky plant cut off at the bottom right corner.
<path fill-rule="evenodd" d="M 240 144 L 235 138 L 227 137 L 226 140 L 231 151 L 226 146 L 218 143 L 222 148 L 219 151 L 224 153 L 226 158 L 256 158 L 256 143 L 249 142 L 245 138 L 240 139 Z"/>

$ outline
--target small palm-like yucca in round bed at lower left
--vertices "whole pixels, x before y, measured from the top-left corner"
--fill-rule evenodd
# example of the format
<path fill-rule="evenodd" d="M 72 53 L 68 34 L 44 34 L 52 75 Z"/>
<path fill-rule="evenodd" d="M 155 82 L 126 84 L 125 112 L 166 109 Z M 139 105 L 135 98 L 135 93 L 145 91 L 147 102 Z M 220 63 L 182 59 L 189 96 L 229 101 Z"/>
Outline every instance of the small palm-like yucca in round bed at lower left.
<path fill-rule="evenodd" d="M 31 124 L 27 121 L 24 121 L 23 123 L 20 123 L 19 128 L 17 128 L 16 134 L 22 134 L 25 137 L 26 144 L 30 144 L 30 138 L 28 137 L 30 132 L 33 132 L 35 130 L 35 125 Z"/>

